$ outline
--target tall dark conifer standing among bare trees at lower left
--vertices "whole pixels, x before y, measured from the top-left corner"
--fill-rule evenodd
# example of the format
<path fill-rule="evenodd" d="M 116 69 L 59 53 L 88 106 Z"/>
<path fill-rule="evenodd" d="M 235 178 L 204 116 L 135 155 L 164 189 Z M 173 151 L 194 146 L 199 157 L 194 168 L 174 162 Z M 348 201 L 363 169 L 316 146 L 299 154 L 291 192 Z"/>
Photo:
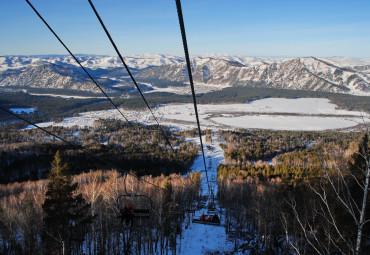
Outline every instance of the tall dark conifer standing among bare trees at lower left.
<path fill-rule="evenodd" d="M 43 245 L 46 254 L 71 254 L 84 241 L 91 222 L 89 204 L 81 194 L 75 194 L 77 183 L 68 175 L 68 164 L 60 152 L 51 163 L 48 190 L 42 205 L 44 211 Z"/>

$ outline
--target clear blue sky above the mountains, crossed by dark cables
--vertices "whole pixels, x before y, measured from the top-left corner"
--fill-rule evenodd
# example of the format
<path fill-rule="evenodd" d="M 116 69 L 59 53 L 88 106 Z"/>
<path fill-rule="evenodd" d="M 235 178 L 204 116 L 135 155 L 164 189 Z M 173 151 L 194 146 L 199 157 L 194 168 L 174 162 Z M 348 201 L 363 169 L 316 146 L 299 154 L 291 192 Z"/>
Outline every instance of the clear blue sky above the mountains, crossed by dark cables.
<path fill-rule="evenodd" d="M 74 53 L 115 55 L 87 0 L 31 0 Z M 93 0 L 121 53 L 183 55 L 175 0 Z M 182 0 L 192 55 L 370 57 L 370 1 Z M 0 1 L 0 55 L 67 54 L 23 0 Z"/>

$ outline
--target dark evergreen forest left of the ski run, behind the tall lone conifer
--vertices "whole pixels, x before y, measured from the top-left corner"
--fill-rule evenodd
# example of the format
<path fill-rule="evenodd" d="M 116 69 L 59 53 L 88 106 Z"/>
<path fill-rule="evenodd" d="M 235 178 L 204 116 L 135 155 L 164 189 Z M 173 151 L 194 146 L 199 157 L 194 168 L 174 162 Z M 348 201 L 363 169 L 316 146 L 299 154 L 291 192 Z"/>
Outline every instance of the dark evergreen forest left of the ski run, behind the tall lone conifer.
<path fill-rule="evenodd" d="M 180 134 L 165 129 L 175 149 L 172 151 L 157 127 L 131 126 L 118 120 L 98 120 L 92 128 L 48 129 L 77 147 L 39 129 L 0 127 L 0 183 L 46 178 L 58 150 L 73 165 L 73 174 L 118 169 L 132 170 L 139 176 L 187 171 L 199 150 Z"/>

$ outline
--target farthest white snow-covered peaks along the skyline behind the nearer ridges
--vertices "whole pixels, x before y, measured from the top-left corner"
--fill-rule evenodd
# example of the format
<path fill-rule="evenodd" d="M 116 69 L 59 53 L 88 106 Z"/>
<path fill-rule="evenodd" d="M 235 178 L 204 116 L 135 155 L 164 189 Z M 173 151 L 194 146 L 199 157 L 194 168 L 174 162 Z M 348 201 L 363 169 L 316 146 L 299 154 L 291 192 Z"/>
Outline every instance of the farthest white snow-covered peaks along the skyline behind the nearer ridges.
<path fill-rule="evenodd" d="M 84 67 L 91 69 L 122 67 L 122 63 L 117 56 L 77 55 L 77 57 Z M 283 63 L 293 59 L 283 57 L 248 57 L 228 55 L 223 53 L 205 54 L 199 57 L 227 60 L 229 62 L 237 62 L 245 66 L 260 66 L 273 63 Z M 331 57 L 320 59 L 339 67 L 370 65 L 370 59 L 354 59 L 349 57 Z M 184 58 L 181 56 L 163 54 L 124 56 L 124 60 L 130 68 L 135 69 L 144 69 L 147 67 L 178 64 L 184 62 Z M 29 67 L 30 65 L 39 65 L 41 63 L 78 66 L 75 60 L 69 55 L 0 56 L 0 71 L 5 71 L 8 69 L 22 69 Z"/>

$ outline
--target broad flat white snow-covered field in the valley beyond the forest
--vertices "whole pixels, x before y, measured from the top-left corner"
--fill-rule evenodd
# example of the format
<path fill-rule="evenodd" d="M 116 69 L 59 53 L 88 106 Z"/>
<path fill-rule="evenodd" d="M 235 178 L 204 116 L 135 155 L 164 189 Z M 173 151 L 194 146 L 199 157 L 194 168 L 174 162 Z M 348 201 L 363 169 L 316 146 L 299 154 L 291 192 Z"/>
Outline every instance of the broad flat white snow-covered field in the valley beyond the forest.
<path fill-rule="evenodd" d="M 162 125 L 177 129 L 195 128 L 193 104 L 160 105 L 153 109 Z M 130 121 L 154 124 L 149 110 L 122 109 Z M 330 130 L 352 128 L 370 123 L 370 115 L 357 111 L 337 109 L 323 98 L 267 98 L 246 104 L 198 105 L 203 129 L 272 129 L 272 130 Z M 97 119 L 122 119 L 117 110 L 81 113 L 61 123 L 41 123 L 40 126 L 93 126 Z"/>

